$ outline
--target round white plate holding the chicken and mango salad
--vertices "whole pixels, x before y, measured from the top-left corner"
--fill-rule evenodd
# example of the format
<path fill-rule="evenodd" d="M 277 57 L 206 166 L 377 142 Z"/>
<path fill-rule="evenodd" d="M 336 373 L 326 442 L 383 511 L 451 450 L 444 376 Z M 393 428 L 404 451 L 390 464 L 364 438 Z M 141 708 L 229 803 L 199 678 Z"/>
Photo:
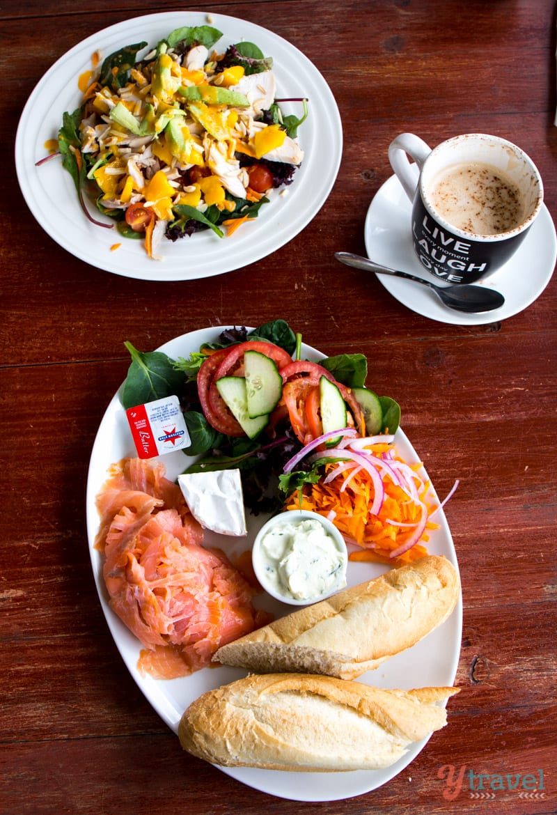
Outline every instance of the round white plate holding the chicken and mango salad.
<path fill-rule="evenodd" d="M 96 227 L 83 214 L 72 178 L 59 157 L 36 166 L 48 155 L 46 141 L 58 138 L 64 112 L 73 112 L 81 103 L 78 77 L 90 70 L 94 51 L 107 56 L 133 42 L 154 46 L 182 25 L 208 24 L 208 17 L 194 11 L 167 12 L 103 29 L 73 47 L 46 72 L 24 107 L 15 139 L 15 166 L 29 209 L 53 240 L 91 266 L 138 280 L 195 280 L 220 275 L 265 258 L 292 240 L 331 192 L 342 154 L 342 125 L 335 98 L 318 69 L 290 42 L 261 26 L 224 15 L 211 15 L 210 19 L 223 35 L 217 43 L 219 49 L 224 51 L 234 42 L 247 40 L 273 58 L 278 99 L 309 99 L 309 115 L 297 137 L 305 151 L 304 161 L 292 184 L 281 188 L 286 190 L 284 195 L 281 190 L 271 191 L 270 203 L 233 236 L 219 238 L 208 230 L 175 243 L 163 240 L 162 260 L 147 257 L 143 240 L 122 238 L 116 228 Z M 300 104 L 283 103 L 281 108 L 287 114 L 302 113 Z M 90 209 L 94 218 L 103 219 L 91 205 Z M 111 251 L 118 243 L 120 247 Z"/>

